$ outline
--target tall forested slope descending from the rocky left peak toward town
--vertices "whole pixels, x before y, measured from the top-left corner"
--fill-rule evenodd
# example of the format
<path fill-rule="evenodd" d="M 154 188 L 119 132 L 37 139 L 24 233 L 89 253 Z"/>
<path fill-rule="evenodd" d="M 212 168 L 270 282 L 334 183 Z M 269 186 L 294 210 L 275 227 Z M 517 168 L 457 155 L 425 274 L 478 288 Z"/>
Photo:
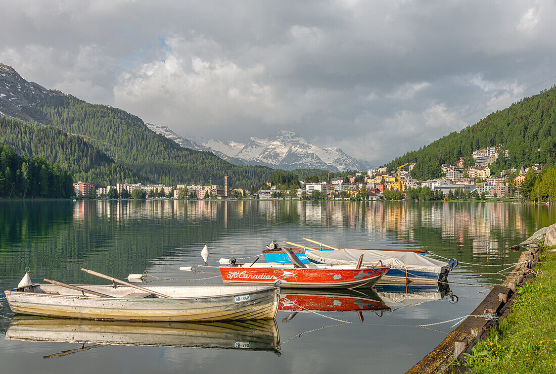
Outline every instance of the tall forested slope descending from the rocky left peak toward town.
<path fill-rule="evenodd" d="M 84 137 L 137 174 L 168 185 L 222 184 L 227 174 L 231 187 L 246 187 L 266 181 L 274 172 L 268 167 L 236 166 L 210 152 L 182 148 L 152 132 L 137 116 L 71 95 L 53 96 L 22 110 L 37 122 Z"/>

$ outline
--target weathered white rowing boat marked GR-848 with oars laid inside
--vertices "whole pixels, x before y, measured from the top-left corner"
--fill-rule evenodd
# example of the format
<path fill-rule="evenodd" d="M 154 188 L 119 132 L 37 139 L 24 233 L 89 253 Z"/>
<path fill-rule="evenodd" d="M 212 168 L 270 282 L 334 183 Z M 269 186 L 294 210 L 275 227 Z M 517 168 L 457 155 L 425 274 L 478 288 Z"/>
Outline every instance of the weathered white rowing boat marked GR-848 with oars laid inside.
<path fill-rule="evenodd" d="M 5 293 L 14 313 L 121 321 L 272 319 L 276 316 L 280 299 L 280 288 L 276 285 L 137 288 L 120 285 L 59 286 L 33 283 Z"/>

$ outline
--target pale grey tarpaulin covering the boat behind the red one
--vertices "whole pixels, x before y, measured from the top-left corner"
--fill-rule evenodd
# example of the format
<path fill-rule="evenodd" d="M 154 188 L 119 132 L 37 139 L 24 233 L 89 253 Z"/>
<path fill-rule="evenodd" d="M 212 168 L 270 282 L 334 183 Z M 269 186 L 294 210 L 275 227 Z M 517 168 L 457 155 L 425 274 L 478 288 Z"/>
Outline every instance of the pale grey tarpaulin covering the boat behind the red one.
<path fill-rule="evenodd" d="M 425 271 L 441 273 L 443 268 L 448 270 L 448 263 L 434 260 L 434 258 L 419 255 L 414 252 L 394 252 L 378 250 L 337 250 L 337 251 L 307 251 L 309 260 L 330 265 L 357 265 L 359 257 L 363 255 L 363 265 L 376 265 L 382 261 L 384 266 L 399 270 Z"/>

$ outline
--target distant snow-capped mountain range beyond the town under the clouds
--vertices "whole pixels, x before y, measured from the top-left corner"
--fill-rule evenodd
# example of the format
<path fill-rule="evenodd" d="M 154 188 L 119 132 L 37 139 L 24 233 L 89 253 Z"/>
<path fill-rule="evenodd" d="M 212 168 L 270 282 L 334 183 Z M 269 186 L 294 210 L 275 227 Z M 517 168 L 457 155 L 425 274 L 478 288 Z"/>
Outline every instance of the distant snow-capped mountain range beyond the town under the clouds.
<path fill-rule="evenodd" d="M 152 131 L 173 139 L 182 147 L 211 151 L 236 164 L 264 165 L 286 170 L 315 168 L 344 171 L 366 170 L 369 167 L 365 161 L 349 156 L 338 147 L 317 147 L 295 131 L 277 131 L 264 139 L 251 137 L 244 144 L 217 138 L 185 138 L 166 126 L 147 126 Z"/>

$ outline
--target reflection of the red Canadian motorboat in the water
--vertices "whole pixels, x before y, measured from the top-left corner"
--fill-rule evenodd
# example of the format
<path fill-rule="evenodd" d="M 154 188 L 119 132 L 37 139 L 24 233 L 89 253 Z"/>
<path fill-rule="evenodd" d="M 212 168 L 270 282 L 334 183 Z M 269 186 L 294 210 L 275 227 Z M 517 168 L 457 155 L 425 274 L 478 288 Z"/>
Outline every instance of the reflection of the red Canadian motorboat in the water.
<path fill-rule="evenodd" d="M 300 311 L 311 312 L 378 312 L 390 310 L 371 288 L 361 290 L 306 290 L 289 289 L 280 292 L 279 310 L 292 312 L 287 322 Z M 359 313 L 363 322 L 363 315 Z"/>

